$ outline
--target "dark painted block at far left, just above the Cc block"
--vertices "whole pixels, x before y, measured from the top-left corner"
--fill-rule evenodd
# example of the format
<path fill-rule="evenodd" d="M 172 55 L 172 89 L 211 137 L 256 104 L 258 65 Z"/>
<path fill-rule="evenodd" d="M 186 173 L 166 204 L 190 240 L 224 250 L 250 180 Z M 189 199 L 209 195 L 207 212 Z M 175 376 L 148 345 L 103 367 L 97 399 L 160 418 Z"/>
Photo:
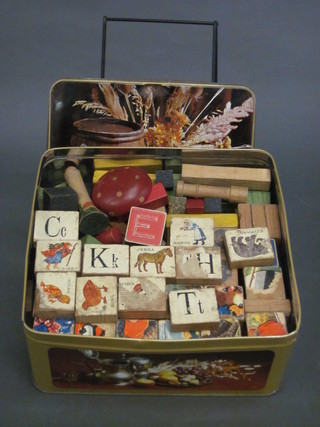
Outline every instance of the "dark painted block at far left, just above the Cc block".
<path fill-rule="evenodd" d="M 50 187 L 43 189 L 43 209 L 48 211 L 77 211 L 77 193 L 70 187 Z"/>

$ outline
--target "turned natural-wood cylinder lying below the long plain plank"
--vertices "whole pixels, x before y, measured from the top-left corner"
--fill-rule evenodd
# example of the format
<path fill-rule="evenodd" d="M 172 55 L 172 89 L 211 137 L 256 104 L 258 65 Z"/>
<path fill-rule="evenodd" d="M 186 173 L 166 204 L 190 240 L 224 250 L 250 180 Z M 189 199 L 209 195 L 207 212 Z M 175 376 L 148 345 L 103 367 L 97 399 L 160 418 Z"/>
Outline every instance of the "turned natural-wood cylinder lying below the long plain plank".
<path fill-rule="evenodd" d="M 230 203 L 246 203 L 248 188 L 232 185 L 231 187 L 217 187 L 215 185 L 188 184 L 182 180 L 177 182 L 177 196 L 195 198 L 219 197 Z"/>

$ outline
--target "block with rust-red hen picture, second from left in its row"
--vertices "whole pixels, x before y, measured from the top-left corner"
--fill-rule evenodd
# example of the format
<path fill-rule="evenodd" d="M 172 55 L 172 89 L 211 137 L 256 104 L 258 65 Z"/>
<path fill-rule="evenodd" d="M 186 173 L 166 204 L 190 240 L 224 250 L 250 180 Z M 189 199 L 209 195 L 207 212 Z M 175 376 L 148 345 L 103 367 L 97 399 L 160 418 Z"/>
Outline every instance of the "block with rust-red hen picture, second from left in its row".
<path fill-rule="evenodd" d="M 77 323 L 116 322 L 117 309 L 116 277 L 78 277 L 75 309 Z"/>

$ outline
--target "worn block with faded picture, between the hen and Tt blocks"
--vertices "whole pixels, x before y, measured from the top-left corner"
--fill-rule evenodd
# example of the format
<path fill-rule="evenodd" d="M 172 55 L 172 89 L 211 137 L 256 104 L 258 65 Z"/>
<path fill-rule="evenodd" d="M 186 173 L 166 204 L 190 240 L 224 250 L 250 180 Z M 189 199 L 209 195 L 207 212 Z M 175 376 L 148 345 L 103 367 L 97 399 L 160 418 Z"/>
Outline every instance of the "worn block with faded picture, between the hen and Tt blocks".
<path fill-rule="evenodd" d="M 119 278 L 118 315 L 123 319 L 163 319 L 167 315 L 164 278 Z"/>

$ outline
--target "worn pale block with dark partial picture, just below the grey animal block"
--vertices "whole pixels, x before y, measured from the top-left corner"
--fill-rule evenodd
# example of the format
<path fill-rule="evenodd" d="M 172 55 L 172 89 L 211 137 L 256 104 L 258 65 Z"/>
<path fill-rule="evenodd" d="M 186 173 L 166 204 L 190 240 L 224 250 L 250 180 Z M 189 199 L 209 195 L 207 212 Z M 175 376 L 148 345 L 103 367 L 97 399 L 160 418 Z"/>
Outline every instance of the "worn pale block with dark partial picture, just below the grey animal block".
<path fill-rule="evenodd" d="M 243 269 L 247 299 L 285 299 L 280 267 L 245 267 Z"/>

